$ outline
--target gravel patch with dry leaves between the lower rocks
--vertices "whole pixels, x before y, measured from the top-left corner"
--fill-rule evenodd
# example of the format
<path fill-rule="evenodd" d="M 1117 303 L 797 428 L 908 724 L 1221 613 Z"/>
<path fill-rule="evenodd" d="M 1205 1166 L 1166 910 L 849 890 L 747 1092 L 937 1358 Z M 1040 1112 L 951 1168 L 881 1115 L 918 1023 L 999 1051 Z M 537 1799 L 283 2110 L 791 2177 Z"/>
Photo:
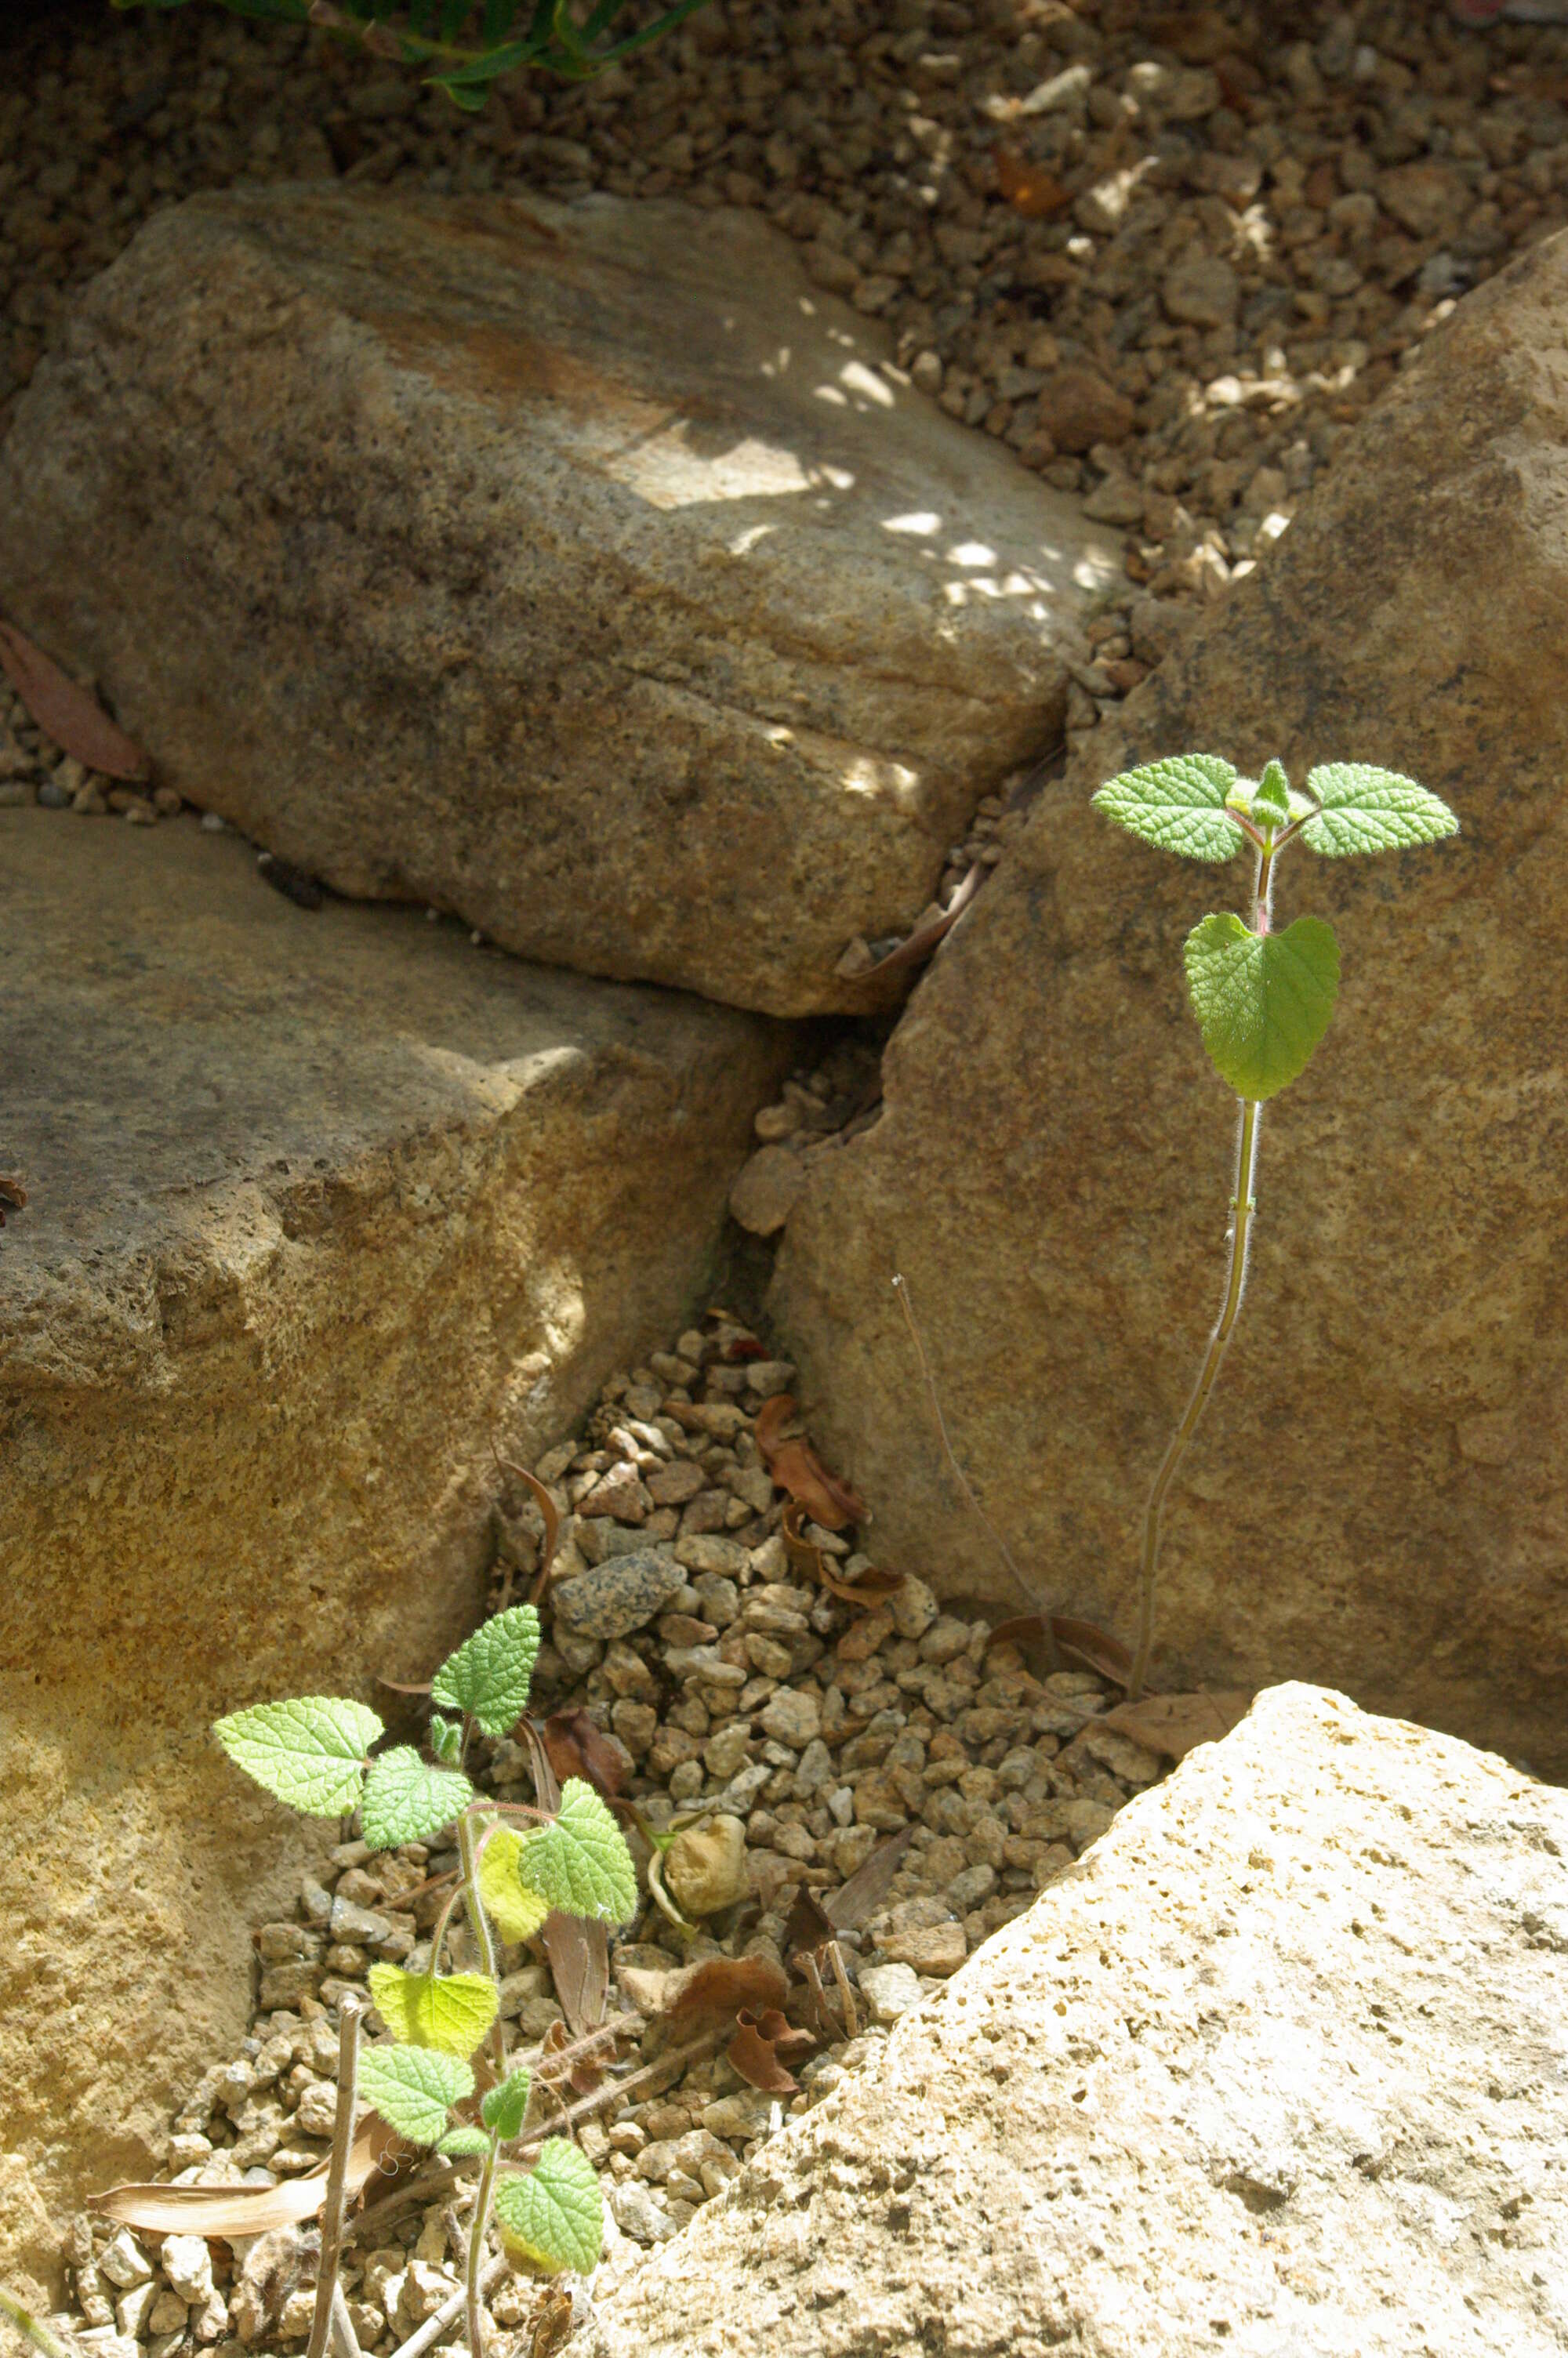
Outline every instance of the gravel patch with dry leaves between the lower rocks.
<path fill-rule="evenodd" d="M 561 1511 L 561 1540 L 533 1710 L 585 1710 L 648 1825 L 679 1813 L 710 1827 L 681 1872 L 674 1851 L 665 1858 L 665 1882 L 698 1929 L 677 1929 L 648 1898 L 613 1941 L 611 2009 L 634 2007 L 660 1967 L 719 1955 L 780 1964 L 799 1891 L 830 1896 L 905 1827 L 908 1849 L 887 1891 L 839 1936 L 856 2037 L 792 2066 L 799 2094 L 750 2087 L 722 2051 L 681 2061 L 686 2033 L 634 2016 L 611 2082 L 641 2070 L 637 2094 L 606 2089 L 611 2101 L 575 2127 L 608 2207 L 589 2294 L 677 2233 L 1162 1773 L 1155 1754 L 1094 1724 L 1108 1702 L 1094 1674 L 1033 1679 L 1012 1646 L 988 1644 L 986 1620 L 943 1611 L 920 1580 L 875 1611 L 802 1580 L 780 1530 L 785 1500 L 755 1438 L 759 1410 L 792 1370 L 759 1349 L 733 1318 L 710 1313 L 646 1368 L 615 1375 L 582 1436 L 535 1469 Z M 493 1606 L 531 1585 L 540 1533 L 538 1507 L 509 1486 Z M 865 1570 L 854 1540 L 811 1523 L 806 1535 L 842 1578 Z M 512 1738 L 481 1740 L 476 1778 L 502 1797 L 533 1792 L 528 1752 Z M 250 2033 L 174 2113 L 167 2176 L 276 2184 L 325 2158 L 337 2002 L 368 1995 L 377 1957 L 427 1962 L 443 1903 L 429 1879 L 453 1865 L 424 1844 L 375 1856 L 356 1839 L 323 1842 L 295 1915 L 257 1926 Z M 561 2021 L 561 2004 L 538 1943 L 507 1948 L 502 1969 L 502 2016 L 526 2056 Z M 813 2021 L 802 1981 L 790 2018 Z M 389 2202 L 389 2224 L 351 2245 L 344 2287 L 365 2351 L 389 2358 L 457 2287 L 469 2172 L 439 2167 L 441 2184 Z M 99 2358 L 205 2349 L 238 2358 L 292 2351 L 309 2334 L 309 2233 L 278 2231 L 241 2252 L 80 2217 L 66 2259 L 75 2311 L 61 2323 Z M 500 2280 L 490 2316 L 502 2346 L 540 2299 L 523 2278 Z M 462 2323 L 441 2339 L 462 2339 Z"/>

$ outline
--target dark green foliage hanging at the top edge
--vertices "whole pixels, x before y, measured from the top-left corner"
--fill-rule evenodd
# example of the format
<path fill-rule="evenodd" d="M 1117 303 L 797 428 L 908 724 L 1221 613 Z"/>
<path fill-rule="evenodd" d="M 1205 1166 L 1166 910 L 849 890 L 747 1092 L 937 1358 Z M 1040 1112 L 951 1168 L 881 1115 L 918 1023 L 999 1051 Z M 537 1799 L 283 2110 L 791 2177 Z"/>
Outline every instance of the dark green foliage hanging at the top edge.
<path fill-rule="evenodd" d="M 113 0 L 118 9 L 167 14 L 186 0 Z M 542 66 L 585 83 L 618 57 L 644 50 L 684 24 L 703 0 L 674 0 L 653 24 L 615 40 L 627 0 L 222 0 L 233 17 L 316 24 L 403 66 L 434 66 L 429 80 L 465 113 L 479 113 L 490 83 L 519 66 Z"/>

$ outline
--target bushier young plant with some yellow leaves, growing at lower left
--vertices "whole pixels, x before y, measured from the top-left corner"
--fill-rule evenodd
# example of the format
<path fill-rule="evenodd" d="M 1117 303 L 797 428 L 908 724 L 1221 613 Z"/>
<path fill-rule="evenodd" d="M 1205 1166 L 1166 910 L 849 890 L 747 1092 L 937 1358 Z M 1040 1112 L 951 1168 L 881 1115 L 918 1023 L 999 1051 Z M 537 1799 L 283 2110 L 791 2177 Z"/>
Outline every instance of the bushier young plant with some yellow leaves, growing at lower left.
<path fill-rule="evenodd" d="M 413 1745 L 373 1747 L 387 1733 L 363 1702 L 299 1695 L 259 1702 L 217 1721 L 224 1752 L 266 1792 L 307 1816 L 358 1811 L 373 1851 L 436 1842 L 455 1832 L 457 1882 L 429 1943 L 429 1964 L 370 1967 L 370 1997 L 389 2042 L 358 2056 L 358 2094 L 413 2146 L 479 2158 L 479 2200 L 469 2226 L 467 2332 L 483 2358 L 479 2278 L 490 2209 L 514 2259 L 545 2271 L 587 2271 L 599 2259 L 604 2209 L 587 2155 L 549 2136 L 533 2169 L 502 2169 L 528 2120 L 528 2073 L 507 2056 L 500 2021 L 502 1941 L 528 1941 L 552 1910 L 625 1924 L 637 1915 L 637 1870 L 625 1837 L 582 1778 L 568 1778 L 547 1813 L 481 1797 L 465 1773 L 474 1731 L 505 1735 L 528 1702 L 540 1620 L 512 1606 L 483 1622 L 431 1681 L 429 1759 Z M 443 1971 L 457 1905 L 483 1971 Z M 474 2056 L 488 2047 L 479 2117 Z M 340 2080 L 340 2106 L 354 2089 Z M 328 2292 L 321 2294 L 325 2339 Z"/>

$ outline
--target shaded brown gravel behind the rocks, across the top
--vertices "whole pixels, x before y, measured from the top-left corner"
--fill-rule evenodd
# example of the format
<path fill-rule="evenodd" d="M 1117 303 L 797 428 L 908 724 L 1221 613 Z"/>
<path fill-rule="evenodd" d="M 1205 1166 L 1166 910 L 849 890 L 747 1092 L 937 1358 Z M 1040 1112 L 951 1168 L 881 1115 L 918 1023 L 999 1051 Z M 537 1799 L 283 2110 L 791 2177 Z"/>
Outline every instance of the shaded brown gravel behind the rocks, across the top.
<path fill-rule="evenodd" d="M 476 120 L 325 33 L 73 17 L 0 90 L 0 429 L 71 288 L 196 189 L 757 205 L 915 384 L 1125 533 L 1127 597 L 1073 684 L 1092 729 L 1460 295 L 1568 217 L 1563 94 L 1568 31 L 1429 0 L 714 0 Z M 156 809 L 28 750 L 0 717 L 0 792 Z"/>

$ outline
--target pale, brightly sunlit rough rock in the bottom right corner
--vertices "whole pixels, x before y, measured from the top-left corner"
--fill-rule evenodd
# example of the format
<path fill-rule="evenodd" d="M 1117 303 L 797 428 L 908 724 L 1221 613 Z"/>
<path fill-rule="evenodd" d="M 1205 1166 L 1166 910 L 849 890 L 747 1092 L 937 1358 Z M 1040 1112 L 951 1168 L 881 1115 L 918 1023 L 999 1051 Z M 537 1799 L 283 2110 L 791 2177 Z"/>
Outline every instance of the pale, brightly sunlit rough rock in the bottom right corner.
<path fill-rule="evenodd" d="M 1561 2353 L 1566 2016 L 1568 1797 L 1276 1688 L 653 2254 L 601 2351 Z"/>

